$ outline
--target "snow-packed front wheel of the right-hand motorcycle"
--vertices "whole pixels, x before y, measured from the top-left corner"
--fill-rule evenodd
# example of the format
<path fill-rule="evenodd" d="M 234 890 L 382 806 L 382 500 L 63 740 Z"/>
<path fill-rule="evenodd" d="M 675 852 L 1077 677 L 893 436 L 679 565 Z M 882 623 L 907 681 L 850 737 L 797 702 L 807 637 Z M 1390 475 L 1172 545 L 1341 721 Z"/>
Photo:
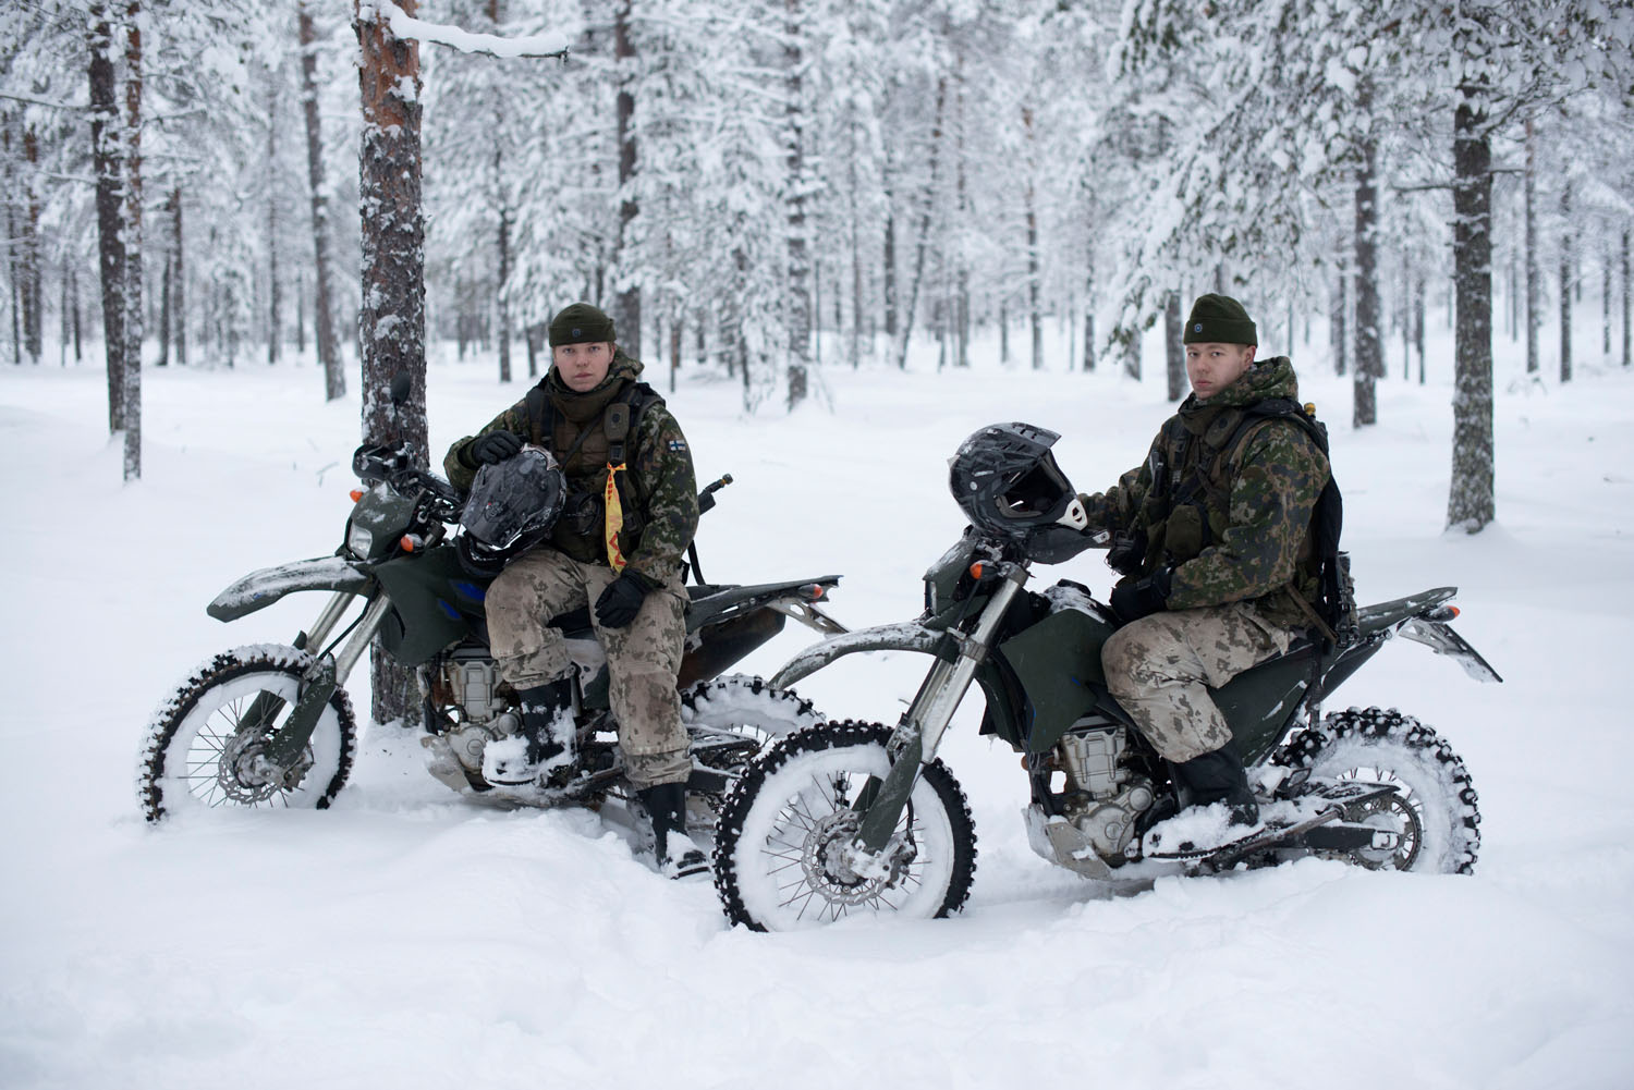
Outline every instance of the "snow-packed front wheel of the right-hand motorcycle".
<path fill-rule="evenodd" d="M 975 830 L 953 773 L 922 770 L 891 848 L 861 861 L 850 848 L 864 791 L 891 771 L 891 729 L 819 724 L 771 745 L 721 807 L 714 871 L 734 923 L 791 931 L 851 915 L 958 912 L 975 873 Z"/>

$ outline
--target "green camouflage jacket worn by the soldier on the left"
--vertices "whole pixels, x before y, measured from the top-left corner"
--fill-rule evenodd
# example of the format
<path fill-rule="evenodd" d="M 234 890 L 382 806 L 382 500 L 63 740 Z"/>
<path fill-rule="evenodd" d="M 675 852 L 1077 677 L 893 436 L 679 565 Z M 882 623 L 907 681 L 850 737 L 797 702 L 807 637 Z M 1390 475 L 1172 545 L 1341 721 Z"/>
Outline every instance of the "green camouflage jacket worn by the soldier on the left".
<path fill-rule="evenodd" d="M 642 364 L 623 351 L 613 356 L 608 377 L 593 391 L 577 394 L 560 381 L 556 368 L 541 379 L 539 389 L 551 402 L 554 428 L 551 436 L 538 433 L 539 422 L 529 418 L 528 399 L 497 415 L 477 435 L 467 435 L 448 448 L 443 471 L 456 489 L 469 489 L 477 476 L 471 444 L 489 431 L 515 431 L 529 443 L 549 448 L 562 464 L 569 484 L 569 505 L 575 498 L 588 505 L 587 516 L 575 525 L 569 511 L 557 521 L 551 544 L 587 564 L 606 564 L 603 541 L 605 489 L 608 477 L 608 436 L 605 412 L 631 382 L 639 381 Z M 575 449 L 577 446 L 577 449 Z M 676 585 L 681 557 L 698 533 L 698 482 L 693 456 L 681 427 L 670 415 L 663 399 L 649 404 L 632 425 L 624 443 L 627 469 L 618 476 L 624 510 L 619 551 L 626 572 L 636 572 L 650 585 Z M 569 451 L 572 454 L 569 456 Z"/>

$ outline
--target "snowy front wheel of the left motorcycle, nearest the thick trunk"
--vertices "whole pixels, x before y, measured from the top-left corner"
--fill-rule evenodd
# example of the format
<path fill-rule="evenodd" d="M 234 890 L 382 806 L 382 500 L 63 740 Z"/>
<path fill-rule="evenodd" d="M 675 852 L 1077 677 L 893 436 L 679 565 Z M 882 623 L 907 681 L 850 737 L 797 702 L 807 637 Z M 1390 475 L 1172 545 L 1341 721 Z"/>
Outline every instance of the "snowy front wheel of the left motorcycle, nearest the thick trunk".
<path fill-rule="evenodd" d="M 239 647 L 194 670 L 160 704 L 142 744 L 137 791 L 147 820 L 193 807 L 327 807 L 356 750 L 345 690 L 330 696 L 294 766 L 278 766 L 263 752 L 310 665 L 294 647 Z"/>

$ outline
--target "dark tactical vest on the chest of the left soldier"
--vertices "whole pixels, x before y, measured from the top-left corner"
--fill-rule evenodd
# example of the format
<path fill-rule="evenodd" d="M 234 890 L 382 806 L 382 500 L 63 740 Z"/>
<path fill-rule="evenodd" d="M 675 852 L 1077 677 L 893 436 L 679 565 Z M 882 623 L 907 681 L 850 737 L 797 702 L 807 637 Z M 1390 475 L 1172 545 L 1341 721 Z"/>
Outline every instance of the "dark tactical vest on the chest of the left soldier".
<path fill-rule="evenodd" d="M 551 543 L 575 561 L 608 562 L 603 541 L 608 472 L 613 466 L 629 466 L 636 458 L 632 436 L 641 433 L 641 418 L 647 409 L 662 404 L 663 397 L 645 382 L 627 382 L 600 415 L 577 423 L 557 412 L 542 384 L 528 391 L 525 405 L 531 440 L 547 448 L 567 476 L 567 503 Z M 647 482 L 631 469 L 616 474 L 613 482 L 624 513 L 618 544 L 627 557 L 641 544 L 641 531 L 647 525 Z"/>

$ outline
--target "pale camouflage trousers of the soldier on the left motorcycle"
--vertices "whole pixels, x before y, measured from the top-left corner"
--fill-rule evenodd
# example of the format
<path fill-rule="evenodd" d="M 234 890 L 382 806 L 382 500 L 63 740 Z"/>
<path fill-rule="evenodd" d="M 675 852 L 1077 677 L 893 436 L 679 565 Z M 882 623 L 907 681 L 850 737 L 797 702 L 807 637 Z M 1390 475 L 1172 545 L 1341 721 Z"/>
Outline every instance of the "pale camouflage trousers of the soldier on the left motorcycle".
<path fill-rule="evenodd" d="M 505 565 L 489 587 L 489 646 L 500 675 L 515 688 L 567 677 L 574 662 L 551 618 L 593 605 L 616 579 L 613 569 L 582 564 L 556 549 L 534 549 Z M 680 579 L 647 595 L 626 628 L 592 626 L 608 659 L 608 701 L 618 744 L 637 788 L 683 783 L 693 768 L 681 727 L 675 677 L 686 642 L 686 593 Z"/>

